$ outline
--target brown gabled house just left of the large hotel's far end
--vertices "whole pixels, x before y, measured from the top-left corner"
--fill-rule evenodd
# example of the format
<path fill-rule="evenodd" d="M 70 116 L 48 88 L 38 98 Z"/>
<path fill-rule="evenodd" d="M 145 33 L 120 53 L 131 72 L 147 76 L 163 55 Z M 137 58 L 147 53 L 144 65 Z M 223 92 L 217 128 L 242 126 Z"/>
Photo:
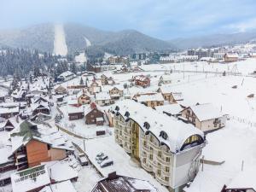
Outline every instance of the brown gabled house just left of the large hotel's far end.
<path fill-rule="evenodd" d="M 84 118 L 85 118 L 85 123 L 88 125 L 91 125 L 91 124 L 103 125 L 105 121 L 104 113 L 96 105 L 95 102 L 90 103 L 90 105 L 84 109 Z"/>

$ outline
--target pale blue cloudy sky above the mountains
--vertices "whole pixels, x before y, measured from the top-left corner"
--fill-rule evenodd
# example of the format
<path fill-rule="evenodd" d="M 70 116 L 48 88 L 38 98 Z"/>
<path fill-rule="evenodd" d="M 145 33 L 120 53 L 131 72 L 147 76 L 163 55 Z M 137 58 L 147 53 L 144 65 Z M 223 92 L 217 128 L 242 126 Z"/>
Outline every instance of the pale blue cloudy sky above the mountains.
<path fill-rule="evenodd" d="M 0 0 L 0 29 L 75 22 L 160 39 L 256 29 L 256 0 Z"/>

